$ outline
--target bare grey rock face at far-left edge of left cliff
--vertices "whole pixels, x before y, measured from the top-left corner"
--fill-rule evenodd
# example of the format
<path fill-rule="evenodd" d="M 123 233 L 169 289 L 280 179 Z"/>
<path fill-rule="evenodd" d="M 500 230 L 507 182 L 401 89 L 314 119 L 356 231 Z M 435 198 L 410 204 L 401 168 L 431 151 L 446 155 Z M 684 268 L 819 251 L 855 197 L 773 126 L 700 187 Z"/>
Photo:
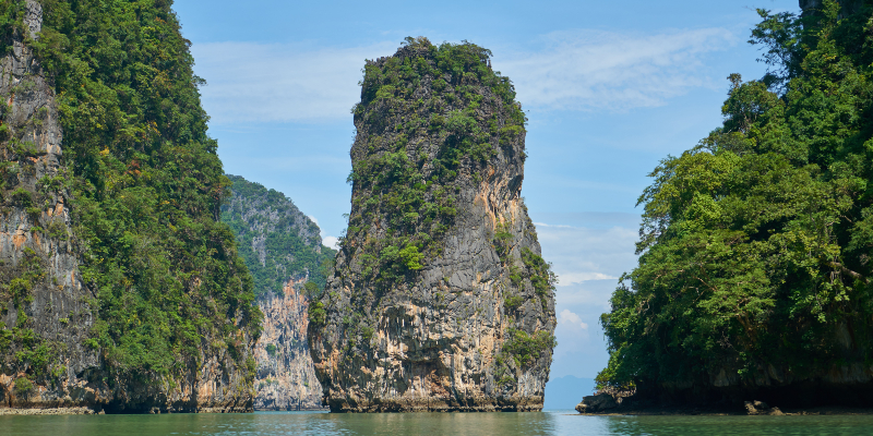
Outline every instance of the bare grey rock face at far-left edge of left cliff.
<path fill-rule="evenodd" d="M 40 5 L 27 1 L 27 36 L 36 37 L 41 24 Z M 84 346 L 94 323 L 94 293 L 82 283 L 79 242 L 71 238 L 55 92 L 24 39 L 16 32 L 11 52 L 0 60 L 0 96 L 7 104 L 0 126 L 0 404 L 79 404 L 94 399 L 85 372 L 99 366 L 97 352 Z M 19 353 L 24 359 L 16 359 Z M 56 363 L 38 368 L 31 380 L 26 373 L 41 358 L 36 354 L 53 354 Z M 41 370 L 56 372 L 62 386 L 39 379 L 47 376 Z"/>

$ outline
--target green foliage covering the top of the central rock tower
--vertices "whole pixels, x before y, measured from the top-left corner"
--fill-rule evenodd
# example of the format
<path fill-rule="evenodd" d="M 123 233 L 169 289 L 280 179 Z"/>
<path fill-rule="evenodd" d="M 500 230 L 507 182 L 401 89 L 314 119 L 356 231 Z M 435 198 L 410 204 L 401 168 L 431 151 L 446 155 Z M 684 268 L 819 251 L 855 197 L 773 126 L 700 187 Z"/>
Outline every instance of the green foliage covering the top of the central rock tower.
<path fill-rule="evenodd" d="M 361 101 L 352 108 L 356 195 L 340 245 L 363 250 L 363 276 L 375 284 L 441 254 L 457 215 L 455 181 L 462 173 L 480 181 L 489 161 L 501 148 L 512 155 L 510 141 L 525 131 L 515 88 L 491 70 L 490 56 L 466 41 L 436 46 L 409 37 L 397 55 L 364 66 Z M 363 237 L 379 228 L 384 238 Z M 366 242 L 352 247 L 349 240 Z"/>

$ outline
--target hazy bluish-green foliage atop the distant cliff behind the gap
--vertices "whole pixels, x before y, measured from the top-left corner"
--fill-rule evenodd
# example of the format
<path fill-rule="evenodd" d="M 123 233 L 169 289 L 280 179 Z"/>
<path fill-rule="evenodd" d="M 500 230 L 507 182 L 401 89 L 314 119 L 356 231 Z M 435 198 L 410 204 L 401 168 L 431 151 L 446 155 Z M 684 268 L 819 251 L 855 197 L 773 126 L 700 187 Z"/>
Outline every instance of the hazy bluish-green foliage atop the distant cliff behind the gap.
<path fill-rule="evenodd" d="M 232 197 L 222 206 L 222 221 L 237 237 L 255 296 L 280 293 L 291 278 L 309 277 L 324 289 L 325 263 L 333 262 L 336 251 L 322 245 L 319 226 L 280 192 L 238 175 L 228 178 Z"/>

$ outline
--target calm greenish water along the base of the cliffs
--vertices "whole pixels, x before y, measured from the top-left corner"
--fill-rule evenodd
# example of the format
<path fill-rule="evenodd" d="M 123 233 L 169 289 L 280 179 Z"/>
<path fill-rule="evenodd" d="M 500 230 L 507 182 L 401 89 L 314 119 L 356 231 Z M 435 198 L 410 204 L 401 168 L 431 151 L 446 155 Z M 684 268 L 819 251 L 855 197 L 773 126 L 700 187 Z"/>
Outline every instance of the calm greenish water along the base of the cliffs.
<path fill-rule="evenodd" d="M 0 435 L 870 435 L 873 416 L 543 413 L 0 416 Z"/>

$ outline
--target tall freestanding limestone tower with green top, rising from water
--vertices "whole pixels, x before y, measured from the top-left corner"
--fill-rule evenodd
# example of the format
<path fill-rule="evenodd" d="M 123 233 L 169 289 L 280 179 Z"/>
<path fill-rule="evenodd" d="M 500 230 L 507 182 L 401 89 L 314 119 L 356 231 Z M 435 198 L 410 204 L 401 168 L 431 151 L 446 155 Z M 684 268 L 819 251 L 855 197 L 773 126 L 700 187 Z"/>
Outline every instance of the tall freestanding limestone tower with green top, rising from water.
<path fill-rule="evenodd" d="M 524 113 L 490 52 L 368 61 L 349 227 L 310 307 L 334 412 L 542 408 L 553 283 L 521 197 Z"/>

